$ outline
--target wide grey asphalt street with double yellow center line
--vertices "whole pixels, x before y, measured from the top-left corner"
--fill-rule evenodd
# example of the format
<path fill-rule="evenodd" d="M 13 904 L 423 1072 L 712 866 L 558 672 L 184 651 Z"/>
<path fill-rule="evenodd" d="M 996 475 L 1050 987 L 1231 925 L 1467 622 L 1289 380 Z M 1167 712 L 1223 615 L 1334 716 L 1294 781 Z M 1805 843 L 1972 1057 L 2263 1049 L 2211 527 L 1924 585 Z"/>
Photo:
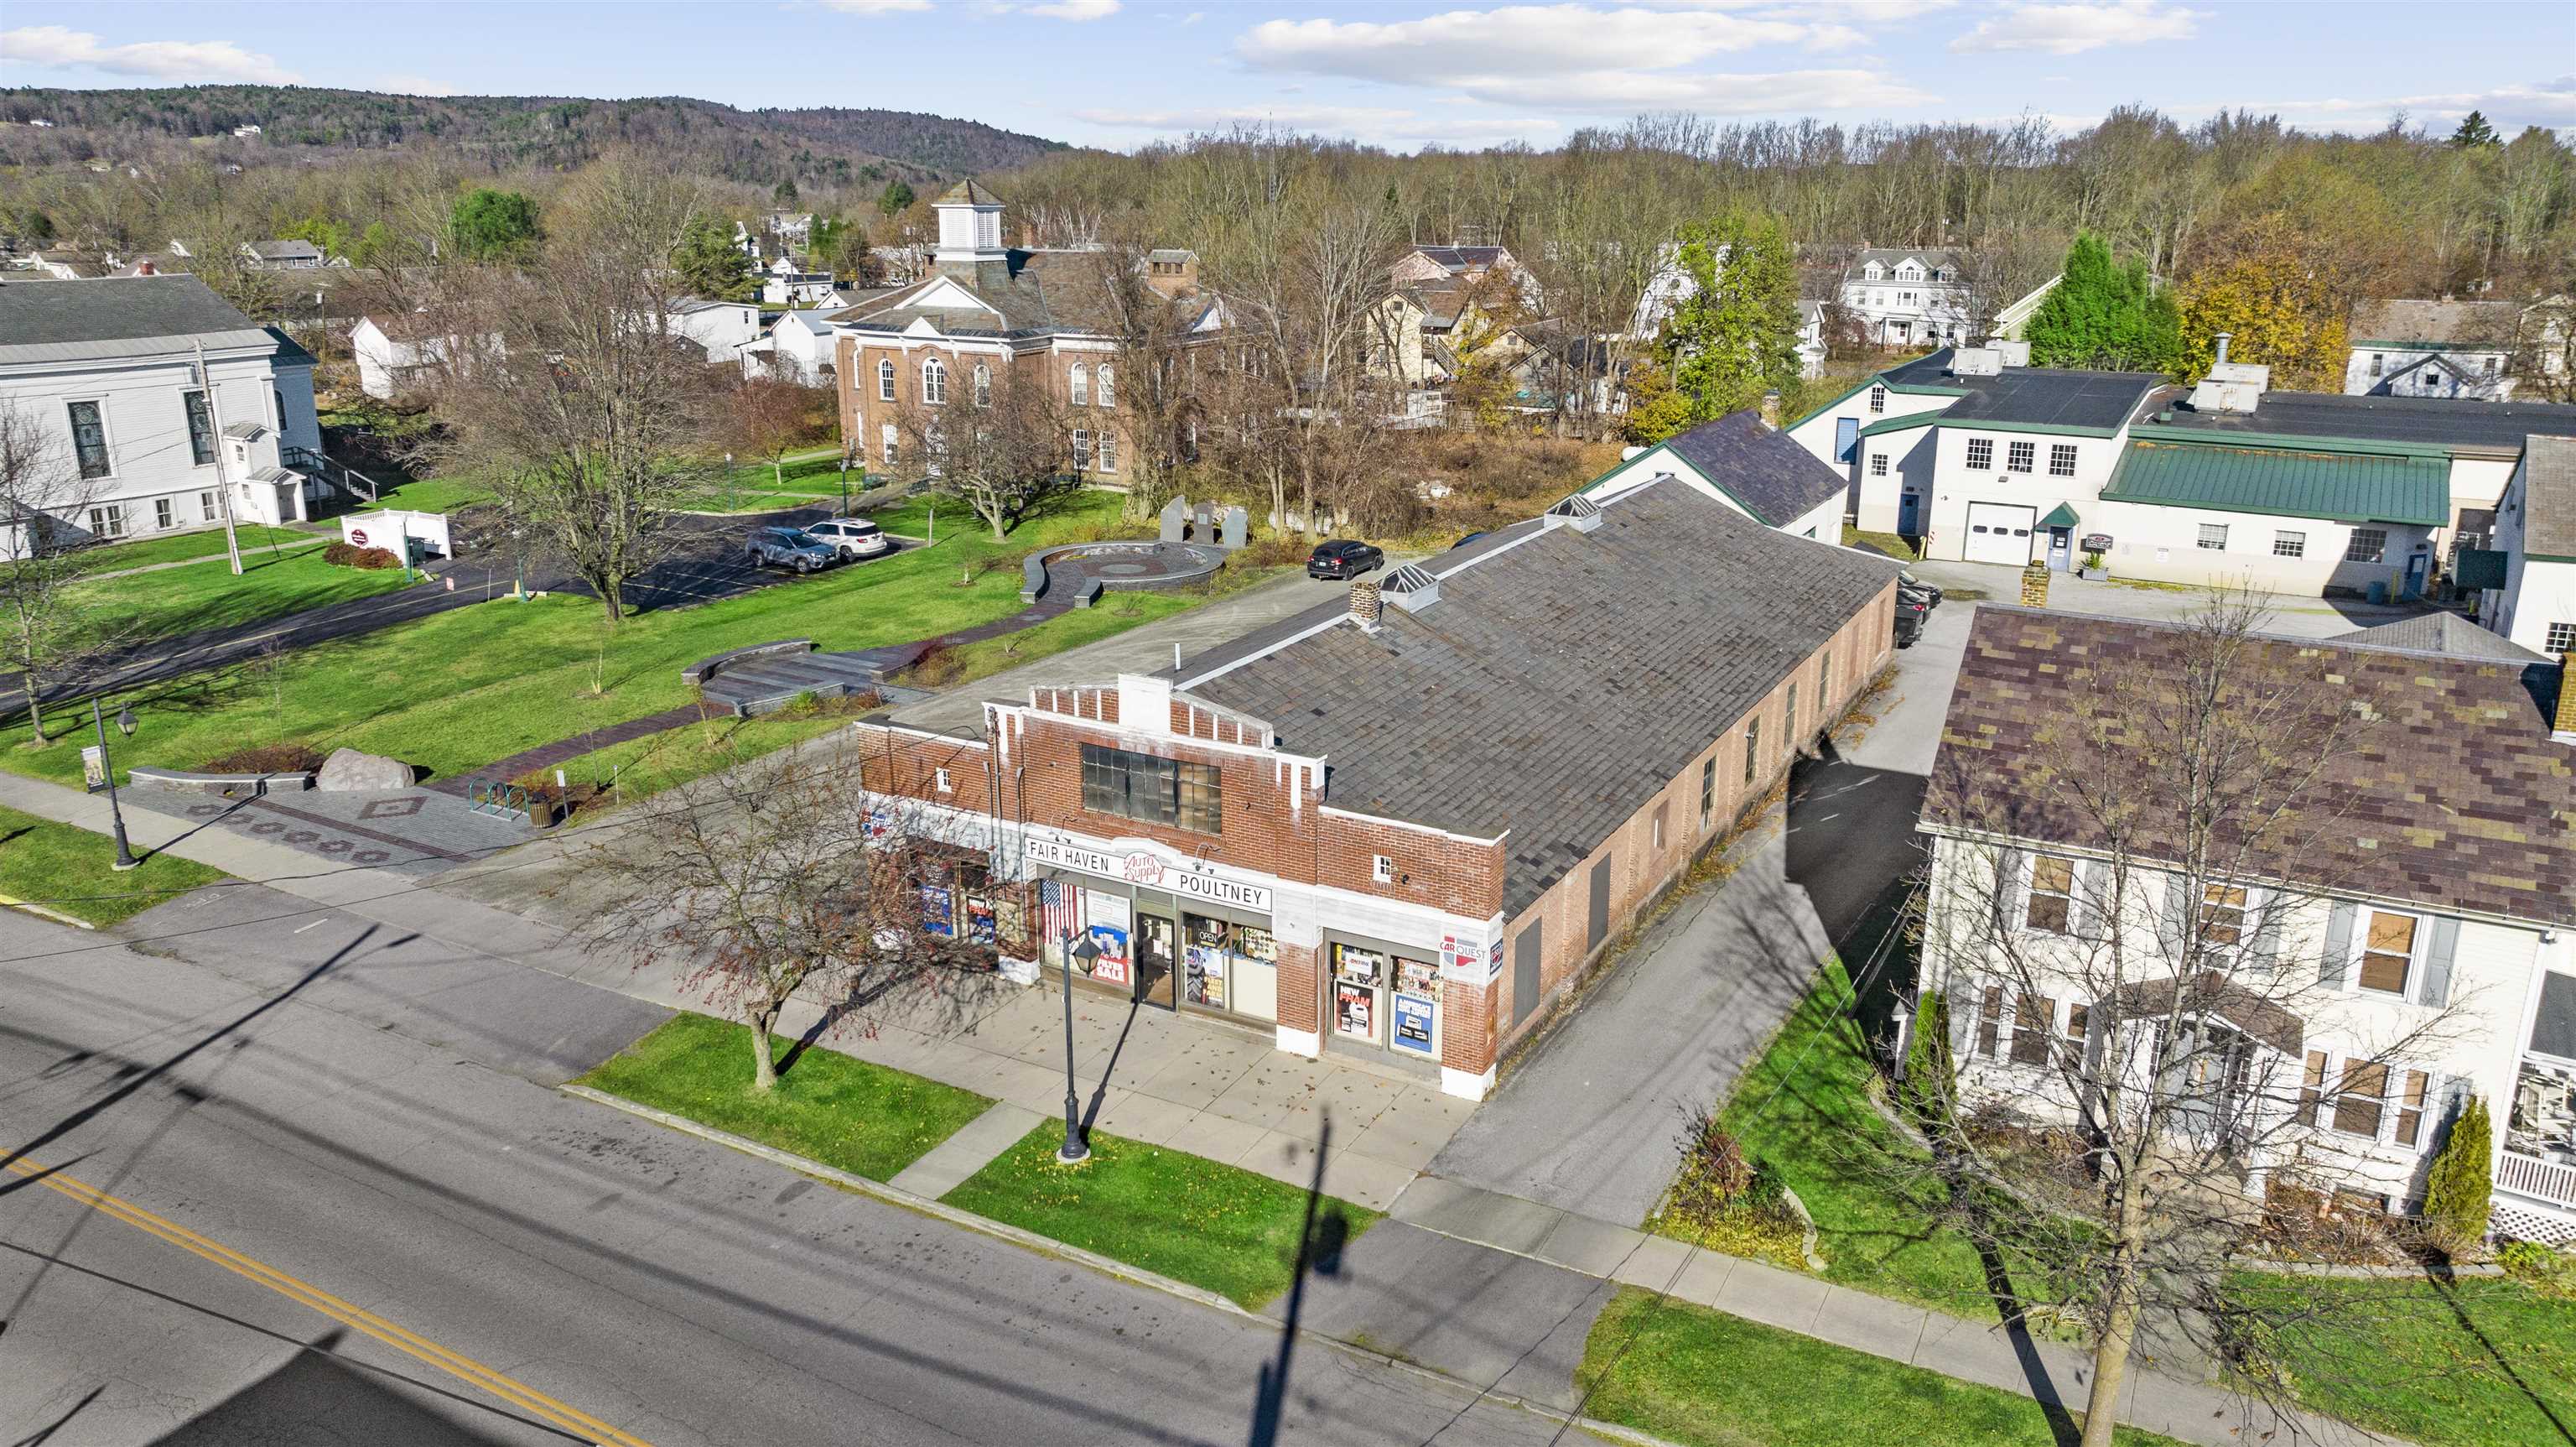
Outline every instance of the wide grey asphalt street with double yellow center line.
<path fill-rule="evenodd" d="M 1265 1432 L 1275 1326 L 562 1097 L 544 1081 L 657 1012 L 309 909 L 198 893 L 129 927 L 149 953 L 0 914 L 0 1141 L 18 1164 L 0 1177 L 0 1439 L 1553 1432 L 1311 1344 Z M 36 1166 L 167 1231 L 23 1179 Z M 510 1401 L 469 1385 L 477 1370 L 518 1383 Z"/>

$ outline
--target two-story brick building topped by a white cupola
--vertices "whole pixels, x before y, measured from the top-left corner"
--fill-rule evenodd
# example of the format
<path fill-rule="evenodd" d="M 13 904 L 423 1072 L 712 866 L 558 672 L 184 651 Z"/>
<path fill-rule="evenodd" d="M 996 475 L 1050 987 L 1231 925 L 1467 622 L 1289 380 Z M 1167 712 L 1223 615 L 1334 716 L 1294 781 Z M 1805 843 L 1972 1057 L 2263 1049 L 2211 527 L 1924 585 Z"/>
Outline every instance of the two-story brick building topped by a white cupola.
<path fill-rule="evenodd" d="M 871 469 L 899 469 L 909 407 L 989 407 L 1005 368 L 1036 366 L 1066 407 L 1077 471 L 1118 487 L 1136 453 L 1118 412 L 1131 327 L 1110 268 L 1128 263 L 1108 250 L 1002 245 L 1002 201 L 971 180 L 933 209 L 930 273 L 829 317 L 842 445 Z M 1224 306 L 1198 288 L 1195 252 L 1157 250 L 1133 265 L 1151 294 L 1144 301 L 1175 309 L 1157 327 L 1211 342 L 1224 332 Z"/>

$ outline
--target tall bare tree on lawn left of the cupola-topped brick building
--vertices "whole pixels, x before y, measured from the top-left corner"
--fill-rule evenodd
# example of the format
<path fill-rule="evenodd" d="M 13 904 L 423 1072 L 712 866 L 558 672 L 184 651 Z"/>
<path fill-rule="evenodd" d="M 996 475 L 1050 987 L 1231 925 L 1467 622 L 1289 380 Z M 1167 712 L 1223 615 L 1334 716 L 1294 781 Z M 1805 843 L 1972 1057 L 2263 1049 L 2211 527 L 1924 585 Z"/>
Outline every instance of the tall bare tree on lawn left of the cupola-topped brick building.
<path fill-rule="evenodd" d="M 492 481 L 513 528 L 556 554 L 608 610 L 675 546 L 703 492 L 719 404 L 703 348 L 680 335 L 670 252 L 706 209 L 696 185 L 611 162 L 572 196 L 526 273 L 482 273 L 438 366 L 446 427 L 428 453 Z"/>

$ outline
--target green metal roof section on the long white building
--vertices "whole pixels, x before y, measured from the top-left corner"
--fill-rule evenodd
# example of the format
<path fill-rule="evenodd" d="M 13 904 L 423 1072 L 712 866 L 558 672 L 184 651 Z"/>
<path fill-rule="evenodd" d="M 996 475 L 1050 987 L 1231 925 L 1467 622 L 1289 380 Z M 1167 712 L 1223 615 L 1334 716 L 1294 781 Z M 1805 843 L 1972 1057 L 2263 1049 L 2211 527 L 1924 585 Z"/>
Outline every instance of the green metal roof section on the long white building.
<path fill-rule="evenodd" d="M 2442 528 L 2450 523 L 2450 463 L 2396 453 L 2133 440 L 2102 499 Z"/>

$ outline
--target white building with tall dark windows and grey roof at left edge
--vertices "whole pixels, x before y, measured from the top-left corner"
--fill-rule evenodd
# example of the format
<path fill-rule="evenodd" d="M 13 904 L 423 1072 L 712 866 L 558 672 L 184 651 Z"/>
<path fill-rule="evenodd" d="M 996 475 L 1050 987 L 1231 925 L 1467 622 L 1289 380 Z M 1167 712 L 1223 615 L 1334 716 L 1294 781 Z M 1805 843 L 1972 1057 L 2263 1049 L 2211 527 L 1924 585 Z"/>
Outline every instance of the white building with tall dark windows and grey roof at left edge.
<path fill-rule="evenodd" d="M 289 523 L 319 497 L 314 358 L 193 275 L 0 281 L 0 407 L 59 445 L 54 543 Z"/>

